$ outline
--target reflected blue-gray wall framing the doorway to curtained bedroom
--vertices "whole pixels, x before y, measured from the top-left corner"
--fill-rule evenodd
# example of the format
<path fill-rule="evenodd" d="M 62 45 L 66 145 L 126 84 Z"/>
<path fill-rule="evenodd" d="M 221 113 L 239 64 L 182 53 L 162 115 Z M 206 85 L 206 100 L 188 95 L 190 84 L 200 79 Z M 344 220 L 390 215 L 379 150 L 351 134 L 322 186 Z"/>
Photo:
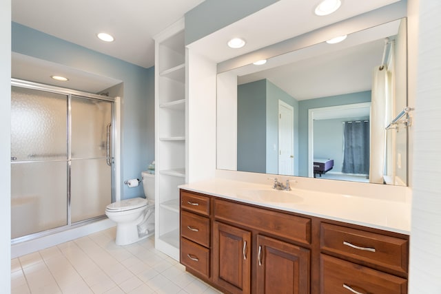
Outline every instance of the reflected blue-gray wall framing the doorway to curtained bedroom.
<path fill-rule="evenodd" d="M 313 108 L 365 103 L 371 101 L 371 91 L 329 96 L 299 101 L 298 112 L 298 152 L 299 176 L 308 176 L 308 111 Z"/>

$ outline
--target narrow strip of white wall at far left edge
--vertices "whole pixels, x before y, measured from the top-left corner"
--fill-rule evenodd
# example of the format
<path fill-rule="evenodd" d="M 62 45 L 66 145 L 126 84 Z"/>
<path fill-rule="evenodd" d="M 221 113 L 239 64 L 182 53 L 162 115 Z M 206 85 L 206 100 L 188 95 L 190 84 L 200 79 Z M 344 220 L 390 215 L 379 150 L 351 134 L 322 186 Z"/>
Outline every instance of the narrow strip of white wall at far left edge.
<path fill-rule="evenodd" d="M 10 293 L 10 96 L 11 96 L 11 1 L 0 2 L 0 289 Z"/>

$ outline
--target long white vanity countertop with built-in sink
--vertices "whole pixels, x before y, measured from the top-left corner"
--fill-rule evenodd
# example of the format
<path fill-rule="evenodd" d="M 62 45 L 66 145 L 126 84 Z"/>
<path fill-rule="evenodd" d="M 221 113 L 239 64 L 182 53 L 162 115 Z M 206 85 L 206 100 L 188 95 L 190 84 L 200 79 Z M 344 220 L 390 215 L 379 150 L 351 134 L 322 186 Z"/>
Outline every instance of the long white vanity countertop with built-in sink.
<path fill-rule="evenodd" d="M 365 227 L 410 234 L 410 201 L 369 198 L 365 196 L 326 193 L 307 189 L 279 191 L 271 185 L 214 178 L 187 185 L 181 189 L 205 193 L 262 207 L 302 213 Z"/>

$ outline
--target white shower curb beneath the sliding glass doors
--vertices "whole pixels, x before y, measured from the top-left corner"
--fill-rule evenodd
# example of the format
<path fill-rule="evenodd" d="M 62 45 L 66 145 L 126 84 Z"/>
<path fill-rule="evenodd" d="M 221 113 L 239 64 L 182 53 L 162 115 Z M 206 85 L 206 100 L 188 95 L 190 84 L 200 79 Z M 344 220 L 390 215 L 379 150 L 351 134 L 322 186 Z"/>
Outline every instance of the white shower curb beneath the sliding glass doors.
<path fill-rule="evenodd" d="M 67 231 L 45 235 L 41 238 L 28 240 L 11 245 L 11 258 L 17 258 L 35 251 L 39 251 L 50 246 L 55 246 L 64 242 L 72 241 L 76 238 L 81 238 L 91 233 L 103 231 L 115 227 L 116 224 L 112 220 L 105 218 L 90 224 L 85 224 L 81 227 L 75 227 Z"/>

